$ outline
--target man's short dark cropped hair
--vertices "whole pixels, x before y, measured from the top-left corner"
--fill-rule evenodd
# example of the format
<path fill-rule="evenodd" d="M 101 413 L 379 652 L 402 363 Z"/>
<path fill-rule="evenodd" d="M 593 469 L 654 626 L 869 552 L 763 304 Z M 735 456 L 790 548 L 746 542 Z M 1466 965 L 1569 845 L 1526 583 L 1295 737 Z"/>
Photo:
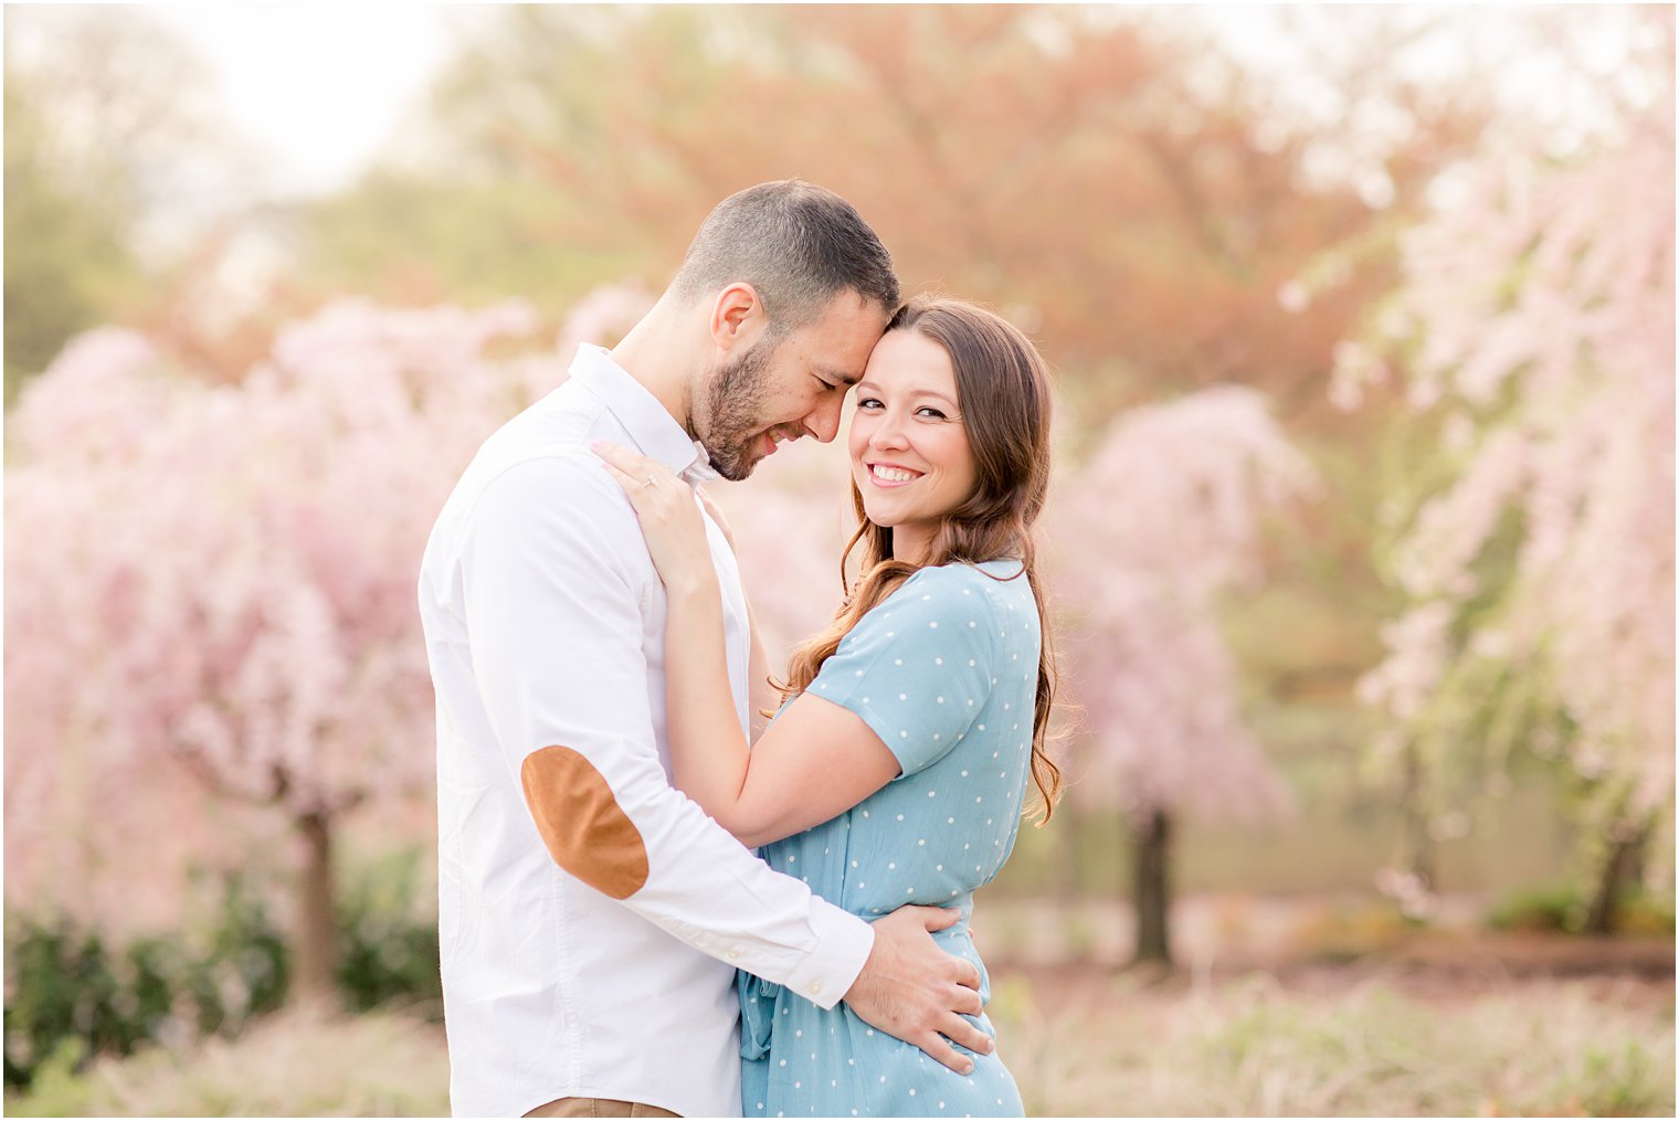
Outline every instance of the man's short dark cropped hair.
<path fill-rule="evenodd" d="M 814 321 L 841 292 L 888 315 L 898 307 L 892 253 L 851 203 L 803 180 L 759 183 L 717 203 L 670 287 L 697 299 L 735 280 L 757 289 L 771 336 Z"/>

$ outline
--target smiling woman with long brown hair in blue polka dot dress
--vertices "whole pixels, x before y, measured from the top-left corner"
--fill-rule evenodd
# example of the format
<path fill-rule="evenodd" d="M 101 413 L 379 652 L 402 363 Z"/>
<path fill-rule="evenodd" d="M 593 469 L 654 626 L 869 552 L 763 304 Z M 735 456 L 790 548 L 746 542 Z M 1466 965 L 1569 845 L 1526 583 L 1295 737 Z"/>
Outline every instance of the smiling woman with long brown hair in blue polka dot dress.
<path fill-rule="evenodd" d="M 672 775 L 777 871 L 870 918 L 957 906 L 935 935 L 981 970 L 972 893 L 1014 846 L 1026 777 L 1048 817 L 1054 661 L 1031 525 L 1049 477 L 1049 384 L 1012 326 L 972 304 L 902 309 L 856 388 L 848 438 L 861 576 L 794 656 L 786 703 L 749 748 L 722 651 L 704 522 L 663 468 L 601 448 L 641 519 L 668 594 Z M 655 485 L 648 485 L 648 478 Z M 841 562 L 843 564 L 843 562 Z M 994 1054 L 910 1045 L 740 975 L 747 1116 L 1019 1116 Z M 952 1014 L 952 1029 L 960 1029 Z M 987 1037 L 984 1015 L 967 1017 Z M 950 1030 L 945 1035 L 952 1034 Z M 960 1054 L 954 1054 L 960 1052 Z M 972 1067 L 957 1074 L 930 1059 Z"/>

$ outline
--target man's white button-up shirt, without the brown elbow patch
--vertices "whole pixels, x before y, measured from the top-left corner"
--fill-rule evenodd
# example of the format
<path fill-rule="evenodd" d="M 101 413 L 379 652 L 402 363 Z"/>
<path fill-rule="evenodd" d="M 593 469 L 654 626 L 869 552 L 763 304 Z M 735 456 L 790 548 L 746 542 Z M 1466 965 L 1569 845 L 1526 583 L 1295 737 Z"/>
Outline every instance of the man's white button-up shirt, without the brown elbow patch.
<path fill-rule="evenodd" d="M 737 1116 L 735 967 L 831 1007 L 873 933 L 672 789 L 665 589 L 593 440 L 710 477 L 653 394 L 584 346 L 566 384 L 479 450 L 420 571 L 450 1099 L 480 1116 L 573 1096 Z M 747 727 L 745 599 L 709 519 L 707 535 Z M 646 879 L 621 901 L 544 846 L 520 769 L 551 745 L 579 752 L 640 832 Z"/>

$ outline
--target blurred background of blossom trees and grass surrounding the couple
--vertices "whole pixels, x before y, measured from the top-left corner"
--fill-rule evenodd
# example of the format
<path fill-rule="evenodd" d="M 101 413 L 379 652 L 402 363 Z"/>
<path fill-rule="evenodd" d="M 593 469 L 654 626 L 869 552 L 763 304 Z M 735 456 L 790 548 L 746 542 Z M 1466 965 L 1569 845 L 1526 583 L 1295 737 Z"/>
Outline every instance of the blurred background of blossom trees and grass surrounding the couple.
<path fill-rule="evenodd" d="M 426 532 L 801 176 L 1058 378 L 1038 1114 L 1674 1109 L 1671 7 L 8 5 L 5 1104 L 447 1111 Z M 719 502 L 772 646 L 845 456 Z"/>

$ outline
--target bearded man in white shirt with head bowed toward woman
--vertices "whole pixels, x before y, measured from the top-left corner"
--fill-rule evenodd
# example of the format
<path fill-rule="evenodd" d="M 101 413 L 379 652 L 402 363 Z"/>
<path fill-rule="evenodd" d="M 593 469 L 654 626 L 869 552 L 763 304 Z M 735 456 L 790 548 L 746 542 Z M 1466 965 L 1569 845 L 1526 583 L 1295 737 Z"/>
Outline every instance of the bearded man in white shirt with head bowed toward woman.
<path fill-rule="evenodd" d="M 897 304 L 892 258 L 845 200 L 799 181 L 740 191 L 653 310 L 615 351 L 581 347 L 443 507 L 420 613 L 457 1114 L 739 1114 L 735 967 L 967 1066 L 937 1032 L 979 1012 L 979 975 L 927 933 L 954 911 L 870 926 L 670 787 L 665 592 L 589 450 L 635 446 L 692 483 L 833 440 Z M 764 673 L 734 555 L 709 534 L 749 725 Z M 989 1051 L 959 1022 L 950 1039 Z"/>

